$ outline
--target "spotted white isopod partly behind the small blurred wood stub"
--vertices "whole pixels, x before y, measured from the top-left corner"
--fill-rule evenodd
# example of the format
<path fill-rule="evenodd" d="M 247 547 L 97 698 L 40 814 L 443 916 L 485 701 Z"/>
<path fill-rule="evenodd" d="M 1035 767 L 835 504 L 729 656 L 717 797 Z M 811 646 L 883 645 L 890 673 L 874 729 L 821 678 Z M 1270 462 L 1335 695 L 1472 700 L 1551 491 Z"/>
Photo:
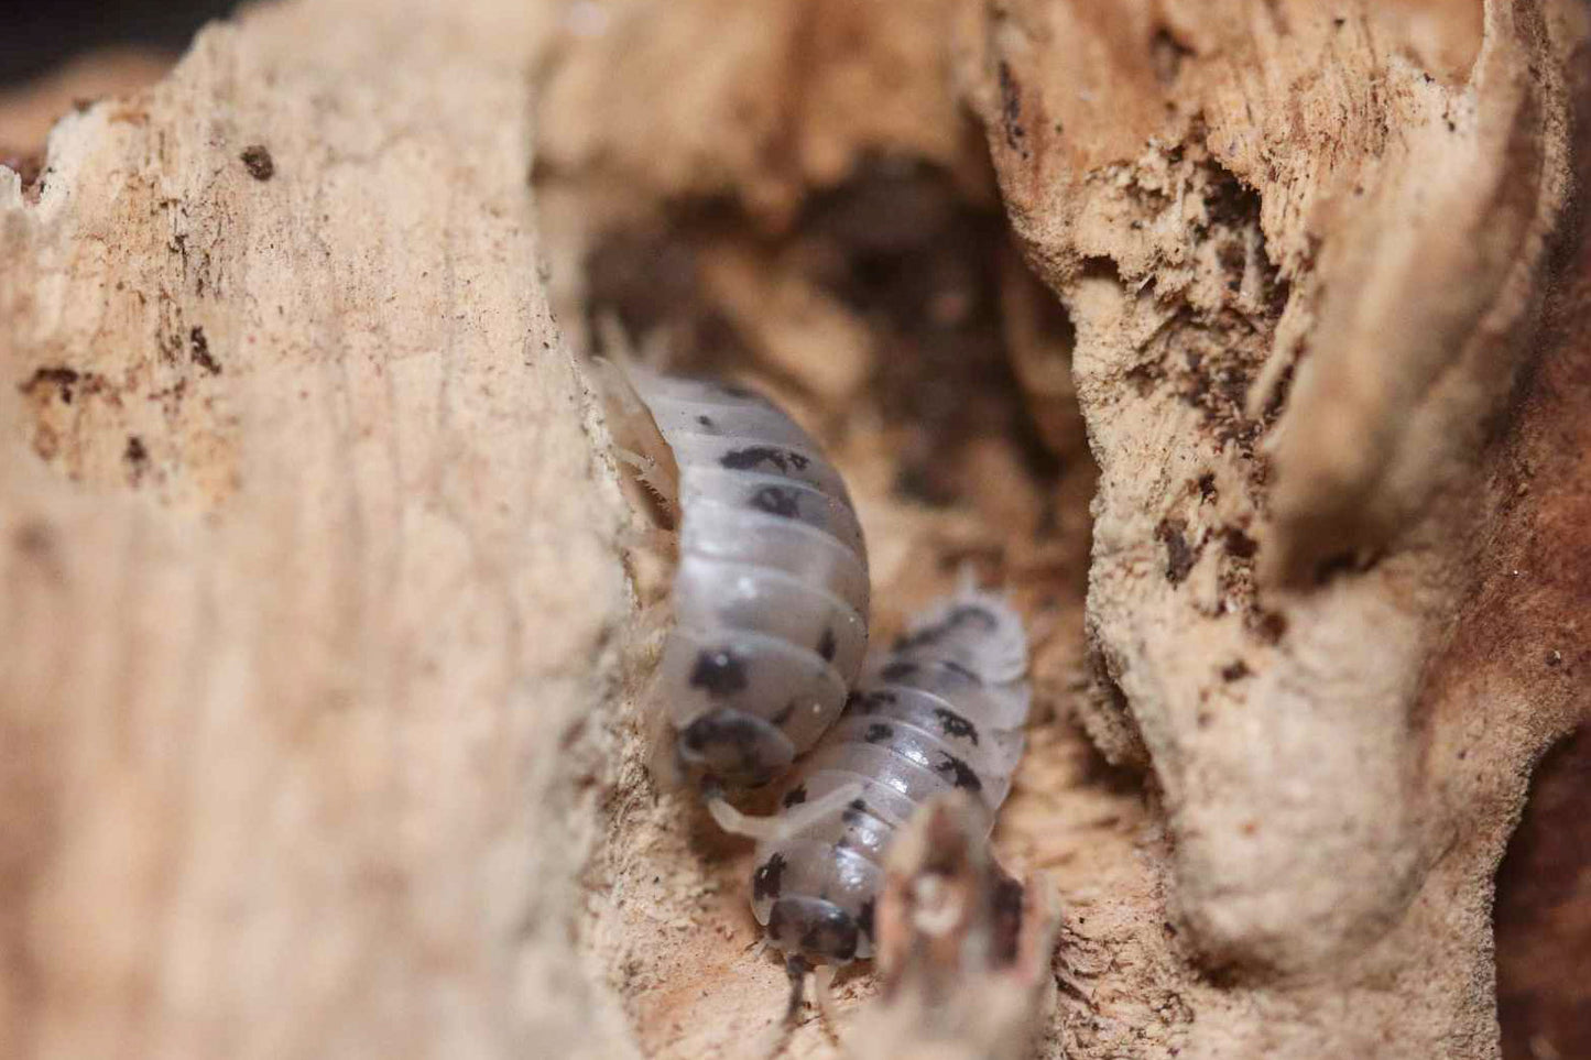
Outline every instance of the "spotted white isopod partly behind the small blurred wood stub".
<path fill-rule="evenodd" d="M 1026 672 L 1020 616 L 963 587 L 869 662 L 838 724 L 791 772 L 751 885 L 786 957 L 792 1012 L 808 968 L 872 957 L 883 856 L 918 805 L 959 788 L 988 836 L 1025 745 Z M 842 805 L 837 791 L 850 796 Z"/>

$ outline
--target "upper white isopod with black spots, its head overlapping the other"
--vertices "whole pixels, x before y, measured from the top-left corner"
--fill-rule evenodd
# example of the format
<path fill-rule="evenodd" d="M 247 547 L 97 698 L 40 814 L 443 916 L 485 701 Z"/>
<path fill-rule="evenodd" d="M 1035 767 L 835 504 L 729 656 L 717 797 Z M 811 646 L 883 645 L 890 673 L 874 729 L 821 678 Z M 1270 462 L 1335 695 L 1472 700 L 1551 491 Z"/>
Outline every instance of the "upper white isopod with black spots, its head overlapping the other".
<path fill-rule="evenodd" d="M 608 366 L 620 454 L 678 517 L 673 627 L 649 696 L 721 820 L 784 774 L 867 653 L 867 548 L 818 442 L 759 393 Z"/>

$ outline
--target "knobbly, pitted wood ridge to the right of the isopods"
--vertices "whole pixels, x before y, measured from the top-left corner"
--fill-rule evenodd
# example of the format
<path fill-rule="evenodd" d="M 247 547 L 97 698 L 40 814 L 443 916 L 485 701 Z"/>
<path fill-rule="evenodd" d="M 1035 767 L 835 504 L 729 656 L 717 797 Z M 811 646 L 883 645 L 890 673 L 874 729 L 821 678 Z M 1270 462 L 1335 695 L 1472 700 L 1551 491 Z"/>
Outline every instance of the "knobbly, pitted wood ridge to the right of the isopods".
<path fill-rule="evenodd" d="M 1176 922 L 1231 984 L 1185 995 L 1182 1055 L 1491 1055 L 1491 875 L 1586 700 L 1542 665 L 1591 602 L 1585 497 L 1526 455 L 1583 358 L 1540 323 L 1585 11 L 983 14 L 966 76 L 1101 470 L 1118 696 L 1082 707 L 1142 746 Z"/>

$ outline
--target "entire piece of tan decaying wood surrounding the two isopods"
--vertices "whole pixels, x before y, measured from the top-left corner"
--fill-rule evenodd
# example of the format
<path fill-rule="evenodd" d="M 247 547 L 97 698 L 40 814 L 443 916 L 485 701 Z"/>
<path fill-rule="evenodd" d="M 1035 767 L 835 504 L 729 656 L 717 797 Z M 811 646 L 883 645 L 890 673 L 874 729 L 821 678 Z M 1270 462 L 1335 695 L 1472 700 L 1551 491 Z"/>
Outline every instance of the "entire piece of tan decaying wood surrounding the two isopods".
<path fill-rule="evenodd" d="M 881 641 L 969 565 L 1028 616 L 1039 1055 L 1499 1055 L 1591 707 L 1586 22 L 294 0 L 67 116 L 0 170 L 0 1049 L 762 1041 L 749 850 L 646 770 L 613 317 L 824 441 Z"/>

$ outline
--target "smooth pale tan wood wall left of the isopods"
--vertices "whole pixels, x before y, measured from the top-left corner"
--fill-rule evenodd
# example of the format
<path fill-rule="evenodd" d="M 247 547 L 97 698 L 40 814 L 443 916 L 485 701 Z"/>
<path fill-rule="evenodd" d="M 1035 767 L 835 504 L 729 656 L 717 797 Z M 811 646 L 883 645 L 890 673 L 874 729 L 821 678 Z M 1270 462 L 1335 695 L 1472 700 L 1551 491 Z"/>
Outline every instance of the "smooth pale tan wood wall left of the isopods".
<path fill-rule="evenodd" d="M 568 972 L 628 603 L 536 18 L 261 8 L 0 170 L 5 1055 L 624 1052 Z"/>

